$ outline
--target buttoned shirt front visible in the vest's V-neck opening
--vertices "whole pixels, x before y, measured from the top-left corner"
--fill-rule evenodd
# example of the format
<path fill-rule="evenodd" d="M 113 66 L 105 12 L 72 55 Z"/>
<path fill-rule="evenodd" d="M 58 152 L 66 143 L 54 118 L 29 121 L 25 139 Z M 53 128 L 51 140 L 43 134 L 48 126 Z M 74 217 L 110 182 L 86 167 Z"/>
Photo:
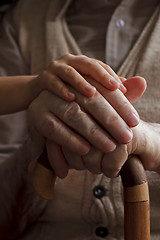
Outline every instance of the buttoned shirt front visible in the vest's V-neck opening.
<path fill-rule="evenodd" d="M 121 0 L 72 1 L 66 20 L 82 53 L 117 71 L 158 3 L 158 0 L 134 4 Z"/>

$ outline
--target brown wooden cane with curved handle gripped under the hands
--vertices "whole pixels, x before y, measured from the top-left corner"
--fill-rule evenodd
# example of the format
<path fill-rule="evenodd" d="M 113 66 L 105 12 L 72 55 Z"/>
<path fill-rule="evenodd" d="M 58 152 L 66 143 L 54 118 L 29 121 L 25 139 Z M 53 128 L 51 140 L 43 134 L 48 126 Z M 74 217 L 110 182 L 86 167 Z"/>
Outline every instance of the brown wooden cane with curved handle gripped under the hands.
<path fill-rule="evenodd" d="M 124 239 L 150 240 L 149 191 L 141 161 L 136 156 L 130 157 L 120 175 L 124 186 Z M 41 197 L 53 199 L 55 179 L 45 150 L 33 173 L 35 190 Z"/>

